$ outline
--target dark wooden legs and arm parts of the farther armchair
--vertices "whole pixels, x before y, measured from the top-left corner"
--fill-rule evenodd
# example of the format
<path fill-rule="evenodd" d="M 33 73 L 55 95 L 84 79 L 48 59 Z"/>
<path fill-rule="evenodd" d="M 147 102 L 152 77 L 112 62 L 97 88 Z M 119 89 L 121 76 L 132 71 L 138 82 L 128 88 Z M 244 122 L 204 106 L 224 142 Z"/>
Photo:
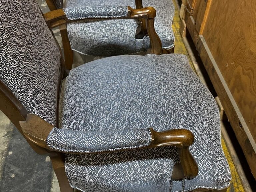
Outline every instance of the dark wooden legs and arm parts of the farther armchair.
<path fill-rule="evenodd" d="M 46 3 L 51 11 L 57 10 L 57 6 L 56 6 L 54 0 L 46 0 Z M 136 5 L 136 9 L 142 9 L 143 8 L 142 0 L 135 0 L 135 5 Z M 63 6 L 63 5 L 61 5 L 61 6 Z M 136 34 L 135 34 L 135 37 L 137 39 L 143 38 L 148 33 L 147 26 L 146 26 L 147 25 L 146 20 L 144 18 L 140 18 L 140 20 L 141 20 L 141 25 L 138 27 Z M 72 22 L 72 21 L 70 21 L 70 22 Z M 72 64 L 73 64 L 74 53 L 73 53 L 73 50 L 71 49 L 66 25 L 60 26 L 60 33 L 61 33 L 61 38 L 62 38 L 62 43 L 63 43 L 66 68 L 68 70 L 71 70 Z M 174 47 L 172 49 L 163 49 L 162 53 L 163 54 L 174 53 Z"/>

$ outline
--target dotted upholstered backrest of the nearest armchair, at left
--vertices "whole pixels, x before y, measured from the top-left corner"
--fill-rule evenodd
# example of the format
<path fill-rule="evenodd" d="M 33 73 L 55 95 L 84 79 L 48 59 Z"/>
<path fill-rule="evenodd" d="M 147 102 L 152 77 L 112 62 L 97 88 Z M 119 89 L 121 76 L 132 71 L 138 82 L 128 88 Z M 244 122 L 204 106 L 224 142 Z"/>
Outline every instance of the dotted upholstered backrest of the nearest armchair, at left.
<path fill-rule="evenodd" d="M 59 47 L 37 2 L 0 0 L 0 81 L 28 113 L 50 124 L 56 122 L 61 69 Z"/>

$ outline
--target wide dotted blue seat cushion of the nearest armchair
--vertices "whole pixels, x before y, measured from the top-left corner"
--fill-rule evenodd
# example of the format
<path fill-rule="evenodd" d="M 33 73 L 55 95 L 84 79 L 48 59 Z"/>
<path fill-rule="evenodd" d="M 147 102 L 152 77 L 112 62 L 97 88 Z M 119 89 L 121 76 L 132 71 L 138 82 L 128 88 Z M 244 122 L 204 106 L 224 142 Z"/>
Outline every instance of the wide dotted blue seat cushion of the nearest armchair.
<path fill-rule="evenodd" d="M 171 180 L 179 162 L 175 147 L 67 154 L 66 174 L 74 188 L 189 191 L 227 187 L 231 180 L 221 147 L 218 106 L 185 55 L 114 56 L 79 66 L 63 80 L 59 115 L 59 126 L 69 130 L 182 128 L 195 136 L 190 151 L 199 173 L 194 179 Z"/>

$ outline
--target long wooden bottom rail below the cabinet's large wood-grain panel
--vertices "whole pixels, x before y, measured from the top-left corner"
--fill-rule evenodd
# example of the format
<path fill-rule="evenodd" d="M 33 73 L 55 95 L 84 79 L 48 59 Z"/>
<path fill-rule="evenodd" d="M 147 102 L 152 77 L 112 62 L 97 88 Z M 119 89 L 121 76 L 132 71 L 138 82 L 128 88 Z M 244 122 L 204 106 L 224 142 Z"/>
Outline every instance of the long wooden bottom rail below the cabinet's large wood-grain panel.
<path fill-rule="evenodd" d="M 235 135 L 242 147 L 248 164 L 251 168 L 252 174 L 256 179 L 256 144 L 248 129 L 246 122 L 228 88 L 219 67 L 209 50 L 203 35 L 199 35 L 195 29 L 194 19 L 188 13 L 184 17 L 187 29 L 193 39 L 193 42 L 198 50 L 200 58 L 206 68 L 206 71 L 211 79 L 215 91 L 217 92 L 223 108 L 227 114 L 229 122 L 235 132 Z"/>

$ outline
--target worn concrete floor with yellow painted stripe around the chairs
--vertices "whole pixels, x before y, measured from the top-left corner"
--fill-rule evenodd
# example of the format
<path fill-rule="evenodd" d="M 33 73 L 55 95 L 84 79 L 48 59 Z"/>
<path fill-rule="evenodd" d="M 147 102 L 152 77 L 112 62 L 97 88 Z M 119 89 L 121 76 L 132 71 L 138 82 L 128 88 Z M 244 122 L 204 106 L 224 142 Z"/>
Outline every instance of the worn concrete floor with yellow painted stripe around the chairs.
<path fill-rule="evenodd" d="M 49 9 L 45 0 L 37 0 L 42 11 Z M 188 56 L 182 38 L 179 34 L 180 20 L 178 11 L 173 22 L 175 33 L 175 53 L 182 53 Z M 62 47 L 59 29 L 53 30 L 60 46 Z M 74 67 L 83 63 L 99 59 L 74 53 Z M 193 67 L 193 65 L 191 65 Z M 48 156 L 37 155 L 25 139 L 13 126 L 10 120 L 0 111 L 0 191 L 39 191 L 59 192 L 58 181 L 52 170 Z M 239 176 L 235 170 L 233 161 L 227 147 L 223 142 L 223 149 L 229 161 L 232 171 L 232 182 L 229 192 L 243 192 Z M 77 191 L 78 192 L 78 191 Z"/>

